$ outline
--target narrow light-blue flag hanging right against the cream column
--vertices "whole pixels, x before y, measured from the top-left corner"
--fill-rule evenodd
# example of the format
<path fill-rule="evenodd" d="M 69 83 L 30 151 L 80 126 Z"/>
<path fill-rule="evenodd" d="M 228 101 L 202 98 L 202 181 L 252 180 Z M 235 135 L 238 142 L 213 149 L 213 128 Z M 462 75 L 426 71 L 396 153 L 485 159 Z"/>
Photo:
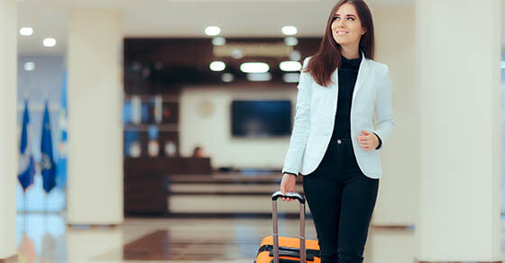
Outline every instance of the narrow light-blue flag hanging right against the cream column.
<path fill-rule="evenodd" d="M 63 85 L 61 85 L 60 94 L 60 114 L 58 126 L 60 127 L 60 140 L 58 144 L 58 168 L 56 185 L 60 189 L 67 186 L 67 73 L 63 75 Z"/>

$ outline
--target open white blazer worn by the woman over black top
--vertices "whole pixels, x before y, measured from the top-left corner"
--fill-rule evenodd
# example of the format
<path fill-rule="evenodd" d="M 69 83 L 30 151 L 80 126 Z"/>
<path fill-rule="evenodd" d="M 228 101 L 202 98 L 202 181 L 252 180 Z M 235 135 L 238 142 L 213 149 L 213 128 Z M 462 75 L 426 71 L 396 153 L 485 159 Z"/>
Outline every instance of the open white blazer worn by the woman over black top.
<path fill-rule="evenodd" d="M 310 58 L 303 61 L 303 68 L 307 66 Z M 363 51 L 362 58 L 351 104 L 353 150 L 363 174 L 371 178 L 381 178 L 382 167 L 378 151 L 388 144 L 395 126 L 390 73 L 387 65 L 366 59 Z M 307 176 L 316 170 L 323 159 L 335 124 L 338 68 L 331 79 L 331 86 L 319 86 L 310 73 L 301 72 L 297 86 L 295 122 L 282 174 L 299 172 Z M 374 112 L 376 125 L 372 123 Z M 358 135 L 363 135 L 361 130 L 377 133 L 381 138 L 381 148 L 363 150 L 357 138 Z"/>

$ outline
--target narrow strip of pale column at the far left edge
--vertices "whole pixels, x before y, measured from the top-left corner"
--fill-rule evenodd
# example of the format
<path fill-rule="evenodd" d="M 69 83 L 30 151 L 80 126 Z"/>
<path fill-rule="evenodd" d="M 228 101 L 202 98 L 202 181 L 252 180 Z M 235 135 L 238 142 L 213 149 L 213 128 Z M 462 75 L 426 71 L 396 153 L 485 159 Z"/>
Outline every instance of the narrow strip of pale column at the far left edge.
<path fill-rule="evenodd" d="M 17 7 L 0 0 L 0 262 L 16 253 Z"/>

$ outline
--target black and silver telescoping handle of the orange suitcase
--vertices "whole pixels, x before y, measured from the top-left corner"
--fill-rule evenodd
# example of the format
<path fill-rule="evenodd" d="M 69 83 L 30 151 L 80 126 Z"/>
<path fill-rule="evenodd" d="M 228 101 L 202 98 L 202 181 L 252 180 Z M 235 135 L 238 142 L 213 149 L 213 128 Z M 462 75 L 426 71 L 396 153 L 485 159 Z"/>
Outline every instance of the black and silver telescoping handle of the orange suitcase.
<path fill-rule="evenodd" d="M 282 195 L 282 192 L 276 191 L 271 195 L 271 214 L 273 221 L 273 263 L 279 263 L 279 232 L 278 232 L 278 220 L 277 220 L 277 198 L 279 197 L 289 197 L 297 199 L 299 202 L 300 210 L 300 262 L 305 263 L 305 258 L 307 257 L 305 249 L 305 198 L 295 192 L 288 192 L 286 195 Z"/>

